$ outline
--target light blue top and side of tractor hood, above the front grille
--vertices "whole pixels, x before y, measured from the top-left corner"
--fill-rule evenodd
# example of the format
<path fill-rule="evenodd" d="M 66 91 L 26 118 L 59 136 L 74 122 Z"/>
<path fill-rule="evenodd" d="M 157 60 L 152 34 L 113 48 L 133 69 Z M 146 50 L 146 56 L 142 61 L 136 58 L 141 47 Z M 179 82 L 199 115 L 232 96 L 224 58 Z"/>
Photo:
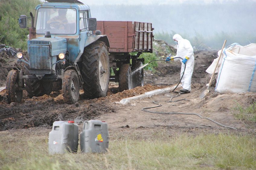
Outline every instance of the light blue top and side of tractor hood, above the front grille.
<path fill-rule="evenodd" d="M 59 55 L 59 53 L 66 54 L 67 51 L 67 40 L 64 38 L 39 38 L 31 39 L 27 41 L 28 48 L 29 46 L 50 46 L 51 56 Z M 30 52 L 30 51 L 29 51 Z"/>

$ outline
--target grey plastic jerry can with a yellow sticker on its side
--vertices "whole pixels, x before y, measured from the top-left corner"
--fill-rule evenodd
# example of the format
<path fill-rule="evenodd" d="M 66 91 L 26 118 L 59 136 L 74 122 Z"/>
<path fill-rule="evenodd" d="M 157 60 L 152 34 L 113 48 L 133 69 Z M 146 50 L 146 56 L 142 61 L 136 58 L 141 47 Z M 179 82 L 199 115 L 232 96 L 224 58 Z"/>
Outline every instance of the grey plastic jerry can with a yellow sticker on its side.
<path fill-rule="evenodd" d="M 84 122 L 80 133 L 80 147 L 82 153 L 106 152 L 109 143 L 108 127 L 106 122 L 89 120 Z"/>

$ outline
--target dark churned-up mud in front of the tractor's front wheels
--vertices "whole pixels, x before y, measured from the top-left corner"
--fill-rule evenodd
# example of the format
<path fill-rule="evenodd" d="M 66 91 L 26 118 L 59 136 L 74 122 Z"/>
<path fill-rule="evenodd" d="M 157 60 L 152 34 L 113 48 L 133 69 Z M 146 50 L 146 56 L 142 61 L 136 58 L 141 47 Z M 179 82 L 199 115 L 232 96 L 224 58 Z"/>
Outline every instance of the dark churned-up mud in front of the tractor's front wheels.
<path fill-rule="evenodd" d="M 74 120 L 79 124 L 103 113 L 115 112 L 115 107 L 103 100 L 80 100 L 75 104 L 64 104 L 63 97 L 60 97 L 62 94 L 56 97 L 56 92 L 8 104 L 5 92 L 0 92 L 3 98 L 0 102 L 0 131 L 38 126 L 50 128 L 54 121 L 60 120 Z"/>

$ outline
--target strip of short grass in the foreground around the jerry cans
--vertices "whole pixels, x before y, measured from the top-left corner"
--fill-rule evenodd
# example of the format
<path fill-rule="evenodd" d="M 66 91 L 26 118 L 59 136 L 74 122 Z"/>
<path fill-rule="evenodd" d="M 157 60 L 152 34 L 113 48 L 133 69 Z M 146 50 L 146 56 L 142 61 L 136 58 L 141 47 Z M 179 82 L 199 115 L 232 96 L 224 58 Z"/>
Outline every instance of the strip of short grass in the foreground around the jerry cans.
<path fill-rule="evenodd" d="M 0 169 L 255 169 L 256 137 L 115 136 L 104 154 L 48 155 L 48 130 L 0 132 Z"/>

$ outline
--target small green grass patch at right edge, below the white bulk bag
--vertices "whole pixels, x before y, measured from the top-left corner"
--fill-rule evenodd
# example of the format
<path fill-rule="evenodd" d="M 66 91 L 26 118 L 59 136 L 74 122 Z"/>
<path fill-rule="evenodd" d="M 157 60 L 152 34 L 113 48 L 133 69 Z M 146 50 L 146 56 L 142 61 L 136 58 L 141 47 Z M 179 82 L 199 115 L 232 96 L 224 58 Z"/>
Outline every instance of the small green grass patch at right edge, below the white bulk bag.
<path fill-rule="evenodd" d="M 237 103 L 237 106 L 234 108 L 234 110 L 238 111 L 237 113 L 234 113 L 237 119 L 256 121 L 256 103 L 255 102 L 248 107 L 242 107 L 239 103 Z"/>

